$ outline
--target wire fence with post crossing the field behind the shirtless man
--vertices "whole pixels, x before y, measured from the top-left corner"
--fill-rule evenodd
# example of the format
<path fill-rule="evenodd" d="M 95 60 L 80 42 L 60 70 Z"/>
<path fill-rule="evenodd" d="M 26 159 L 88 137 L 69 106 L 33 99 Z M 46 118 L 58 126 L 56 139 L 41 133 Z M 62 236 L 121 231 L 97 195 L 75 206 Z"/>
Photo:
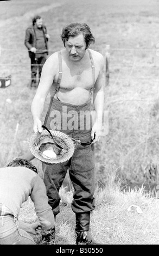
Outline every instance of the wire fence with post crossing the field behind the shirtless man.
<path fill-rule="evenodd" d="M 152 62 L 152 63 L 147 63 L 144 60 L 143 63 L 143 59 L 137 58 L 135 56 L 133 56 L 133 61 L 131 61 L 131 59 L 122 59 L 122 62 L 117 63 L 117 56 L 113 56 L 113 53 L 115 51 L 119 52 L 119 54 L 122 54 L 123 52 L 151 52 L 152 54 L 149 54 L 149 57 L 151 56 L 152 58 L 158 57 L 158 50 L 157 47 L 156 48 L 111 48 L 110 45 L 106 45 L 105 48 L 96 48 L 93 49 L 95 51 L 102 51 L 104 52 L 103 56 L 105 59 L 105 77 L 106 77 L 106 84 L 108 85 L 110 82 L 110 78 L 111 78 L 111 82 L 115 82 L 115 81 L 122 81 L 122 80 L 126 80 L 128 81 L 130 78 L 133 79 L 134 81 L 138 81 L 138 80 L 142 80 L 142 81 L 147 81 L 147 80 L 151 80 L 154 82 L 159 82 L 159 76 L 158 76 L 158 71 L 157 68 L 159 66 L 159 58 L 158 58 L 158 63 L 157 62 Z M 0 55 L 2 56 L 3 54 L 7 54 L 8 52 L 26 52 L 26 54 L 28 53 L 28 51 L 24 48 L 0 48 Z M 7 52 L 7 53 L 6 53 Z M 52 48 L 49 49 L 49 55 L 51 52 L 55 52 L 55 50 L 53 50 Z M 154 54 L 156 53 L 156 54 Z M 24 60 L 24 62 L 26 62 L 26 59 Z M 41 64 L 35 64 L 37 67 L 38 66 L 42 66 Z M 3 59 L 2 62 L 0 62 L 0 67 L 1 67 L 1 71 L 6 71 L 7 69 L 12 70 L 11 74 L 12 75 L 16 75 L 16 80 L 21 80 L 22 76 L 23 76 L 23 71 L 26 70 L 30 70 L 30 62 L 29 62 L 29 56 L 28 56 L 28 61 L 27 63 L 23 63 L 23 61 L 20 61 L 18 63 L 9 63 L 7 59 Z M 19 69 L 17 70 L 17 67 L 19 67 Z M 148 68 L 148 69 L 154 69 L 156 72 L 155 74 L 151 74 L 150 76 L 148 75 L 141 75 L 140 76 L 136 76 L 136 77 L 132 77 L 132 73 L 135 72 L 135 70 L 139 71 L 139 68 Z M 125 69 L 130 69 L 128 70 L 128 74 L 126 74 Z M 16 70 L 16 72 L 15 72 Z M 124 70 L 124 76 L 122 76 L 122 70 Z M 110 74 L 111 72 L 114 72 L 114 74 Z M 145 70 L 144 70 L 145 71 Z M 17 74 L 18 72 L 18 74 Z M 115 74 L 116 73 L 116 74 Z M 28 74 L 28 73 L 27 73 Z M 27 80 L 31 80 L 31 77 L 29 75 L 25 75 L 25 78 Z"/>

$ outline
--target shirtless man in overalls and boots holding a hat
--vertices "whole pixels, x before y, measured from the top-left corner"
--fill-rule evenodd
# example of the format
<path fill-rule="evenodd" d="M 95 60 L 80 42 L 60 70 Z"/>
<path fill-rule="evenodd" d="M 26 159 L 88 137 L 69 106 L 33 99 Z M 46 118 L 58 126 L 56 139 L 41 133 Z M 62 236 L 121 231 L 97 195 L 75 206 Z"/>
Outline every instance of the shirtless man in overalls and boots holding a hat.
<path fill-rule="evenodd" d="M 80 139 L 81 144 L 75 147 L 71 160 L 54 166 L 43 164 L 49 205 L 52 206 L 55 216 L 59 214 L 59 189 L 69 168 L 69 176 L 74 187 L 72 210 L 76 218 L 76 243 L 98 244 L 89 229 L 90 213 L 95 208 L 93 144 L 99 141 L 101 135 L 104 108 L 104 58 L 99 52 L 88 48 L 95 39 L 86 23 L 71 23 L 62 29 L 61 38 L 65 48 L 53 53 L 46 60 L 31 105 L 33 130 L 35 133 L 42 131 L 41 114 L 44 101 L 50 93 L 50 105 L 44 125 L 49 129 L 65 132 L 73 139 Z M 84 123 L 80 123 L 80 115 L 90 113 L 91 96 L 96 120 L 94 124 L 90 121 L 89 126 L 86 125 L 86 115 Z M 61 115 L 55 114 L 57 111 Z M 69 113 L 76 116 L 73 119 L 74 126 L 70 125 Z M 67 122 L 63 121 L 64 115 Z"/>

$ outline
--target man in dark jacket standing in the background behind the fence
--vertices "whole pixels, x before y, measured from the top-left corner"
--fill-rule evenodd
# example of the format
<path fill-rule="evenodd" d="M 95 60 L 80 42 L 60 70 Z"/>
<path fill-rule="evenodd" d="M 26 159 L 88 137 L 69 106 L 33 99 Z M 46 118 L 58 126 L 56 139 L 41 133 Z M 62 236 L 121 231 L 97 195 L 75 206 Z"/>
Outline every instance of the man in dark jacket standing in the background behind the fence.
<path fill-rule="evenodd" d="M 33 25 L 26 30 L 26 38 L 24 44 L 28 48 L 31 60 L 31 84 L 30 87 L 36 87 L 36 74 L 39 68 L 39 80 L 41 70 L 48 55 L 48 39 L 46 26 L 42 23 L 42 18 L 36 15 L 33 18 Z"/>

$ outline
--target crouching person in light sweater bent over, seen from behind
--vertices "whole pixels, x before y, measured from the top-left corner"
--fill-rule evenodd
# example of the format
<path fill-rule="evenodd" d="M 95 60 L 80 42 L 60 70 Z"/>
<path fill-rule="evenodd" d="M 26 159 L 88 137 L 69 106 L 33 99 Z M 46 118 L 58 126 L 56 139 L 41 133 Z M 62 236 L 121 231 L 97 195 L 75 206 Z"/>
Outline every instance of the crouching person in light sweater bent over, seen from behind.
<path fill-rule="evenodd" d="M 39 218 L 32 224 L 18 221 L 20 208 L 29 196 Z M 36 167 L 27 160 L 15 159 L 0 168 L 0 245 L 35 245 L 30 234 L 47 235 L 54 225 L 46 187 Z"/>

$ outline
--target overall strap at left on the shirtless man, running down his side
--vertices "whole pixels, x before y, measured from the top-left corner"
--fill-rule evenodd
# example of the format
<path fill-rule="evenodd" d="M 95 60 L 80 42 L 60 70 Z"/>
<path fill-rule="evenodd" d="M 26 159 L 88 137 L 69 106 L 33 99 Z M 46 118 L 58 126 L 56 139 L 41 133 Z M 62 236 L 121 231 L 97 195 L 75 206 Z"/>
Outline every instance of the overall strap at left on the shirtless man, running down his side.
<path fill-rule="evenodd" d="M 54 93 L 53 93 L 53 95 L 51 95 L 48 111 L 47 111 L 46 117 L 44 119 L 43 125 L 47 124 L 47 120 L 48 120 L 48 117 L 49 117 L 50 109 L 52 107 L 52 102 L 53 102 L 54 96 L 58 92 L 59 87 L 60 87 L 60 83 L 61 83 L 61 78 L 62 78 L 62 54 L 61 54 L 61 51 L 58 52 L 58 57 L 59 57 L 59 76 L 58 76 L 58 81 L 56 82 L 56 87 L 55 87 Z"/>

